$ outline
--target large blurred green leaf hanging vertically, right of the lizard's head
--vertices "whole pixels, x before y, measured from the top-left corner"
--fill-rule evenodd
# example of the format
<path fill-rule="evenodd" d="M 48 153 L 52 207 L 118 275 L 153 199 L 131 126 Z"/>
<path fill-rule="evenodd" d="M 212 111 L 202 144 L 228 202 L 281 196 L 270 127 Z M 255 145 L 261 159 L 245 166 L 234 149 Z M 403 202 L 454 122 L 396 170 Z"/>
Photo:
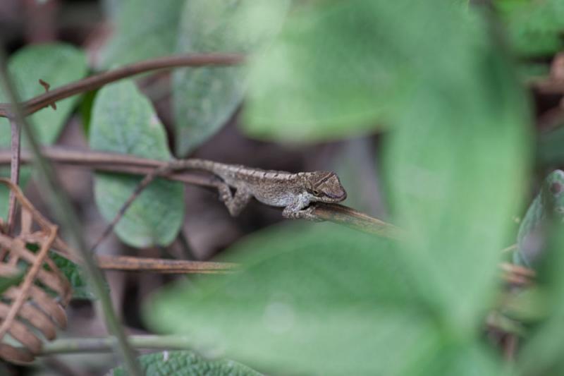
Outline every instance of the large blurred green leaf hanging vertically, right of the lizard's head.
<path fill-rule="evenodd" d="M 510 66 L 490 46 L 467 47 L 465 73 L 421 83 L 386 144 L 410 270 L 457 336 L 474 335 L 495 293 L 529 157 L 527 104 Z"/>

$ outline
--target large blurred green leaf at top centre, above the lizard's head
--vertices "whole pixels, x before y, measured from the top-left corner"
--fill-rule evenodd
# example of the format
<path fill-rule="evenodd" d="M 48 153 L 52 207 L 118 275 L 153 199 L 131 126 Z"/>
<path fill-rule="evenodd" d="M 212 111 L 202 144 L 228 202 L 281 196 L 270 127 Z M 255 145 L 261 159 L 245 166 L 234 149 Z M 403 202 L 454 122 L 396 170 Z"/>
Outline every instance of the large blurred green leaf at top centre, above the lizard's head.
<path fill-rule="evenodd" d="M 367 133 L 410 105 L 417 78 L 465 74 L 467 15 L 452 1 L 430 4 L 318 1 L 297 12 L 251 66 L 246 131 L 300 141 Z"/>

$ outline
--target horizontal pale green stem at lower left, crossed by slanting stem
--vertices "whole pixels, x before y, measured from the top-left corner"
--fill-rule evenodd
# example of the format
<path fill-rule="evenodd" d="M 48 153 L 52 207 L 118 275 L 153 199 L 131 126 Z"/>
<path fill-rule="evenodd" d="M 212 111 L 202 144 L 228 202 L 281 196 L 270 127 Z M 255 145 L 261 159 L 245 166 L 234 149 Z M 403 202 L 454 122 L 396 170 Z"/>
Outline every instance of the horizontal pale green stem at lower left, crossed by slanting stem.
<path fill-rule="evenodd" d="M 129 336 L 130 346 L 164 350 L 185 350 L 193 346 L 188 336 Z M 108 353 L 114 351 L 117 339 L 114 336 L 91 338 L 63 338 L 44 344 L 39 356 L 69 353 Z"/>

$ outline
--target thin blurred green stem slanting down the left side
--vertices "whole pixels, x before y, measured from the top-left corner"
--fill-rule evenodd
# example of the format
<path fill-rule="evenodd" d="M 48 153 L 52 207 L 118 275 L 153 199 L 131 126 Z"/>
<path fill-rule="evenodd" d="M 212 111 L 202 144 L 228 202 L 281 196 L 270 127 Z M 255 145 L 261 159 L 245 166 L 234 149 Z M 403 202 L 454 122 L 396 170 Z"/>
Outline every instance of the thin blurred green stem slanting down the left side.
<path fill-rule="evenodd" d="M 102 305 L 106 326 L 108 327 L 109 332 L 116 336 L 116 343 L 118 344 L 118 348 L 123 356 L 125 368 L 127 368 L 128 372 L 130 372 L 130 375 L 142 375 L 139 365 L 137 365 L 137 361 L 135 360 L 135 355 L 128 345 L 125 332 L 123 332 L 123 328 L 114 313 L 109 293 L 104 287 L 104 275 L 100 272 L 100 269 L 98 269 L 92 255 L 87 251 L 88 248 L 86 241 L 82 236 L 80 221 L 78 220 L 71 203 L 61 191 L 61 184 L 56 178 L 51 164 L 42 156 L 41 151 L 39 150 L 39 142 L 37 142 L 37 138 L 35 138 L 32 128 L 25 120 L 23 111 L 18 105 L 18 94 L 8 75 L 4 50 L 1 48 L 0 82 L 4 86 L 4 91 L 6 92 L 9 101 L 12 103 L 9 117 L 16 121 L 16 124 L 23 130 L 23 133 L 27 138 L 30 150 L 35 157 L 37 171 L 39 171 L 39 176 L 44 182 L 45 191 L 47 195 L 49 195 L 51 207 L 59 218 L 60 223 L 68 230 L 71 241 L 75 244 L 75 249 L 79 250 L 82 259 L 85 261 L 88 277 L 90 277 L 94 291 L 97 293 L 97 296 L 99 296 L 100 303 Z"/>

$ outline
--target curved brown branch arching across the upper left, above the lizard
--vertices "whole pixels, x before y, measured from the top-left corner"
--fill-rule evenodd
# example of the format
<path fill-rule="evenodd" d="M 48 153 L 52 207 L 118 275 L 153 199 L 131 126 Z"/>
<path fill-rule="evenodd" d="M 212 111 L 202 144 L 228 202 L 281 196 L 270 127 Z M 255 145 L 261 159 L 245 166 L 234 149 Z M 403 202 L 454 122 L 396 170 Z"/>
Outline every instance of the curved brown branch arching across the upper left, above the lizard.
<path fill-rule="evenodd" d="M 178 67 L 199 66 L 231 66 L 243 62 L 244 57 L 240 54 L 188 54 L 179 56 L 166 56 L 157 59 L 138 61 L 112 71 L 91 75 L 82 80 L 49 90 L 42 95 L 33 97 L 23 103 L 20 107 L 25 115 L 33 114 L 40 109 L 51 106 L 61 99 L 72 97 L 82 92 L 95 90 L 99 87 L 112 83 L 122 78 L 131 77 L 149 71 L 160 69 L 171 69 Z M 8 117 L 13 112 L 11 104 L 0 104 L 0 117 Z"/>

